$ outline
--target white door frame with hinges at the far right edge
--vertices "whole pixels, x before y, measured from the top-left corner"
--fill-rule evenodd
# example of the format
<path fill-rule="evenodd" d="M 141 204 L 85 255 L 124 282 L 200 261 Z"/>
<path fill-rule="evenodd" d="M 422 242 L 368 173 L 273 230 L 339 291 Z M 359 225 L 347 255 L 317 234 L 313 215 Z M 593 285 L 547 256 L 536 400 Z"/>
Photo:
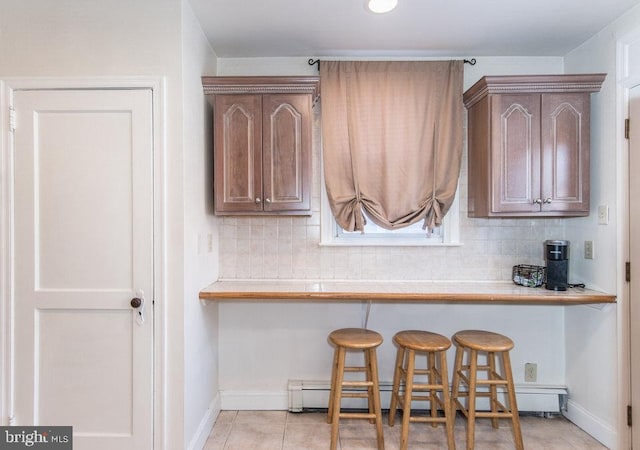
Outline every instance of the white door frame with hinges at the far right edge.
<path fill-rule="evenodd" d="M 629 49 L 640 45 L 640 30 L 620 37 L 616 43 L 616 148 L 617 148 L 617 208 L 618 245 L 618 426 L 617 448 L 631 448 L 631 429 L 627 426 L 627 405 L 631 402 L 631 330 L 630 286 L 625 281 L 625 263 L 629 261 L 629 141 L 624 137 L 624 122 L 629 115 L 629 95 L 640 85 L 640 73 L 631 73 Z M 637 62 L 636 62 L 637 63 Z M 635 405 L 636 408 L 640 405 Z M 636 426 L 639 426 L 636 424 Z"/>

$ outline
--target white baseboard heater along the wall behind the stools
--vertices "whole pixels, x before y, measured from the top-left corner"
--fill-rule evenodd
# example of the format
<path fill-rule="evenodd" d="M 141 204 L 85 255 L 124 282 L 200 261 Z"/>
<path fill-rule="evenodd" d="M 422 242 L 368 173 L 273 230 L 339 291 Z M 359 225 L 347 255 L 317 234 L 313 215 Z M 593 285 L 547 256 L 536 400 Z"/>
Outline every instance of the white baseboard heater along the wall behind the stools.
<path fill-rule="evenodd" d="M 302 412 L 309 409 L 327 407 L 331 383 L 324 380 L 289 380 L 289 411 Z M 382 409 L 389 408 L 392 382 L 380 382 L 380 401 Z M 503 404 L 506 401 L 501 399 Z M 558 414 L 566 410 L 567 388 L 565 386 L 516 384 L 516 400 L 520 412 Z M 418 402 L 417 406 L 420 406 Z M 484 404 L 486 403 L 486 405 Z M 427 405 L 427 403 L 422 403 Z M 361 409 L 366 407 L 364 399 L 345 398 L 344 408 Z M 488 399 L 478 400 L 478 409 L 489 409 Z"/>

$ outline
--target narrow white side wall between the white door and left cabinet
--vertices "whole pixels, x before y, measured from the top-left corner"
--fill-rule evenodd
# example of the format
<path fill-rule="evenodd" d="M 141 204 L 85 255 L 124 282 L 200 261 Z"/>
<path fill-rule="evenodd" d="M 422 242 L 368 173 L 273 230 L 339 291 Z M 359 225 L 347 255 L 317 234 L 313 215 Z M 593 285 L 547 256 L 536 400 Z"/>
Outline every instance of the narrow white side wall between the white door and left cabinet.
<path fill-rule="evenodd" d="M 184 151 L 184 437 L 202 448 L 220 410 L 218 305 L 198 292 L 218 275 L 218 228 L 213 215 L 211 108 L 200 77 L 215 75 L 216 55 L 187 1 L 182 3 Z M 211 245 L 210 245 L 211 244 Z"/>

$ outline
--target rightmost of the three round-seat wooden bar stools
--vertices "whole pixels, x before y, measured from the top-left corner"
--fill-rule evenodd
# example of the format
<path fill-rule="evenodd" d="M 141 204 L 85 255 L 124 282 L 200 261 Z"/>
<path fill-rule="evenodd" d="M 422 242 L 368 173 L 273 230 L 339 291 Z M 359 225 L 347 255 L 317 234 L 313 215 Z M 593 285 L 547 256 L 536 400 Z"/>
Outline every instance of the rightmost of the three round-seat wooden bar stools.
<path fill-rule="evenodd" d="M 498 428 L 498 419 L 511 419 L 516 448 L 524 449 L 520 418 L 516 404 L 516 392 L 511 373 L 509 350 L 513 348 L 513 341 L 506 336 L 490 331 L 465 330 L 453 335 L 456 345 L 456 360 L 453 370 L 453 393 L 451 394 L 454 409 L 459 408 L 467 418 L 467 449 L 473 449 L 476 418 L 490 418 L 493 428 Z M 478 353 L 486 353 L 487 364 L 478 364 Z M 468 353 L 467 364 L 463 364 L 464 354 Z M 496 369 L 496 357 L 502 360 L 502 374 Z M 487 373 L 486 379 L 478 379 L 478 372 Z M 462 384 L 467 386 L 461 391 Z M 488 386 L 488 391 L 478 391 L 478 387 Z M 509 407 L 498 400 L 498 387 L 506 390 Z M 465 408 L 460 398 L 467 397 Z M 476 399 L 488 397 L 490 411 L 477 411 Z"/>

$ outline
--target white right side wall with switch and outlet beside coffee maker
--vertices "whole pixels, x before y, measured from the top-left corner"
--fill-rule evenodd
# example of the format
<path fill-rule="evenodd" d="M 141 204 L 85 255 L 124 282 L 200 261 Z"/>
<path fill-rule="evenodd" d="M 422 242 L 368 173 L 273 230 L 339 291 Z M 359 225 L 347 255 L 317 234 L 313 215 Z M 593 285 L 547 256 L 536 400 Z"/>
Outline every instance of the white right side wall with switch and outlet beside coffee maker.
<path fill-rule="evenodd" d="M 569 53 L 565 58 L 567 72 L 607 73 L 607 79 L 599 94 L 592 96 L 591 117 L 591 215 L 574 219 L 566 227 L 567 238 L 576 251 L 572 269 L 576 279 L 588 280 L 609 292 L 616 292 L 624 276 L 619 270 L 624 254 L 619 254 L 620 245 L 626 242 L 620 230 L 625 220 L 624 199 L 626 187 L 621 186 L 620 176 L 627 167 L 624 155 L 619 152 L 622 128 L 617 122 L 617 81 L 621 74 L 616 71 L 616 41 L 627 33 L 640 31 L 640 7 L 636 7 L 620 19 L 603 29 L 596 36 Z M 610 208 L 608 225 L 598 225 L 596 208 Z M 595 243 L 595 259 L 585 260 L 581 256 L 584 240 Z M 622 294 L 622 293 L 619 293 Z M 615 443 L 616 448 L 627 448 L 626 417 L 623 408 L 626 399 L 617 399 L 624 392 L 618 385 L 626 376 L 619 373 L 621 358 L 618 342 L 621 328 L 628 320 L 621 314 L 625 310 L 625 297 L 619 295 L 618 304 L 597 310 L 587 307 L 567 308 L 567 382 L 571 386 L 569 416 L 582 426 L 594 430 L 601 440 Z M 597 386 L 597 388 L 596 388 Z"/>

